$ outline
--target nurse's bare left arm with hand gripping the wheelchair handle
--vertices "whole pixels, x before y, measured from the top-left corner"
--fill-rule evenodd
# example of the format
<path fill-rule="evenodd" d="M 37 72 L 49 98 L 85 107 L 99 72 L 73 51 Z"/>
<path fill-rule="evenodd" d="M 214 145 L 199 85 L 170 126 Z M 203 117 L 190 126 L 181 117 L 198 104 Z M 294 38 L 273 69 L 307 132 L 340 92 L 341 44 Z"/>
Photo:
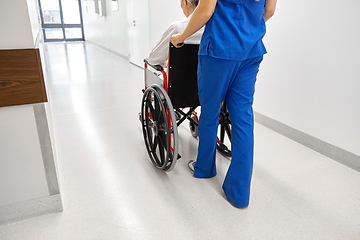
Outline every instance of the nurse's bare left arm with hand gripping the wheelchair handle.
<path fill-rule="evenodd" d="M 216 3 L 217 0 L 200 0 L 184 31 L 180 34 L 173 35 L 170 40 L 171 43 L 175 47 L 180 47 L 178 44 L 183 43 L 186 38 L 202 28 L 213 15 Z"/>

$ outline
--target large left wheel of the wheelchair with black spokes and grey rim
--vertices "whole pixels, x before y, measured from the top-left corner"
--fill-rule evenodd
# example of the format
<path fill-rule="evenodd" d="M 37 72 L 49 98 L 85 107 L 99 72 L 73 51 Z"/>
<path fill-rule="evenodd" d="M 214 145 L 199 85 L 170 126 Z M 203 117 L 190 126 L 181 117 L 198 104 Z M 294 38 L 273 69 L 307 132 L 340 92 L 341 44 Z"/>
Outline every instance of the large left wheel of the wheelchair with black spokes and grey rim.
<path fill-rule="evenodd" d="M 144 92 L 141 123 L 149 157 L 158 169 L 170 171 L 178 156 L 178 132 L 174 109 L 166 91 L 152 85 Z"/>

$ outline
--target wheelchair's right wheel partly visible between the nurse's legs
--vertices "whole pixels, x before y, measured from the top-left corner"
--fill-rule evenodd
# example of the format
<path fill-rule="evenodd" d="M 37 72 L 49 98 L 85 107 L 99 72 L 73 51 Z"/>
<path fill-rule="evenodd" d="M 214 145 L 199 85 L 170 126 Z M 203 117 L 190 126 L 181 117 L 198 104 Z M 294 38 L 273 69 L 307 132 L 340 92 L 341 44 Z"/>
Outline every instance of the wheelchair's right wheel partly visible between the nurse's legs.
<path fill-rule="evenodd" d="M 219 118 L 219 130 L 217 138 L 217 150 L 225 157 L 231 157 L 231 121 L 226 103 L 221 107 Z"/>

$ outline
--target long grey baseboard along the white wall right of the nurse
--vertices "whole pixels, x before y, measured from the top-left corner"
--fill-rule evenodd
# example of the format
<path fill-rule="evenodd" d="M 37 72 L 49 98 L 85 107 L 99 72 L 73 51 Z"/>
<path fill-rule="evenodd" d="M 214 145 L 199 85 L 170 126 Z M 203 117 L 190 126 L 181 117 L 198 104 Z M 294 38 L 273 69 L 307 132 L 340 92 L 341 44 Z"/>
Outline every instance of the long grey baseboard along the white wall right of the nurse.
<path fill-rule="evenodd" d="M 344 149 L 338 148 L 281 122 L 255 112 L 255 122 L 304 145 L 322 155 L 325 155 L 349 168 L 360 172 L 360 156 L 357 156 Z"/>

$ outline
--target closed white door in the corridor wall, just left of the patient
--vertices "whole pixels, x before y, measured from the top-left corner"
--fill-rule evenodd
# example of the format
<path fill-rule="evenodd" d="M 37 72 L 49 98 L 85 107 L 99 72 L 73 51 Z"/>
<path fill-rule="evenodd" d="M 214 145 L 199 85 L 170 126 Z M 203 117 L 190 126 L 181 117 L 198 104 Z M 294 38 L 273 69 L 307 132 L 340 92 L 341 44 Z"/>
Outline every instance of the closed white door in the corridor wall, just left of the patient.
<path fill-rule="evenodd" d="M 150 52 L 148 0 L 128 0 L 130 62 L 143 67 Z"/>

